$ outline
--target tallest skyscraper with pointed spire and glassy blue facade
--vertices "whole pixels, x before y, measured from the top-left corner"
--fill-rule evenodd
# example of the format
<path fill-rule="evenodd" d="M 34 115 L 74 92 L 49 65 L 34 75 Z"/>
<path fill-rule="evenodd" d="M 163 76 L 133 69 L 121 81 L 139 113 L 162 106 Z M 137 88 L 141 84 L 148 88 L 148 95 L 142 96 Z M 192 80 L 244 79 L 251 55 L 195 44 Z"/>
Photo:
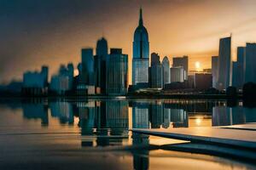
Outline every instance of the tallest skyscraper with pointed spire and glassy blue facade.
<path fill-rule="evenodd" d="M 132 84 L 148 82 L 149 67 L 148 31 L 143 26 L 143 9 L 140 9 L 139 25 L 134 32 L 132 58 Z"/>

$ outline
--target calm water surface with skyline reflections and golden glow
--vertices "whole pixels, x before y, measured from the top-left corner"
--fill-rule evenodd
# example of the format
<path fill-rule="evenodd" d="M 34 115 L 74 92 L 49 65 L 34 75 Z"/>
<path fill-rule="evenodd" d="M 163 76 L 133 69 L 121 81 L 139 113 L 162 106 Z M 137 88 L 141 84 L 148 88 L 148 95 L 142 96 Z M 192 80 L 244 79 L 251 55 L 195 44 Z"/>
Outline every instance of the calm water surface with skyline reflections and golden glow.
<path fill-rule="evenodd" d="M 131 128 L 256 122 L 256 108 L 211 100 L 1 99 L 1 169 L 253 169 L 217 156 L 160 150 L 174 139 Z"/>

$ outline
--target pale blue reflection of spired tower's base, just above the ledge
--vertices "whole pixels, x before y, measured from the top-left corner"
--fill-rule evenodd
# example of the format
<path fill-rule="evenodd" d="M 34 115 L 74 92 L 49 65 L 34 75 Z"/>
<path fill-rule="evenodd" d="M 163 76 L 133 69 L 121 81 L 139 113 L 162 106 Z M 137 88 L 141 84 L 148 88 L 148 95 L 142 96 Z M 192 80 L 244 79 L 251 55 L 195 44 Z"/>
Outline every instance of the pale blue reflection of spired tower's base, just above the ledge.
<path fill-rule="evenodd" d="M 149 128 L 149 105 L 143 102 L 134 102 L 132 105 L 132 127 Z"/>

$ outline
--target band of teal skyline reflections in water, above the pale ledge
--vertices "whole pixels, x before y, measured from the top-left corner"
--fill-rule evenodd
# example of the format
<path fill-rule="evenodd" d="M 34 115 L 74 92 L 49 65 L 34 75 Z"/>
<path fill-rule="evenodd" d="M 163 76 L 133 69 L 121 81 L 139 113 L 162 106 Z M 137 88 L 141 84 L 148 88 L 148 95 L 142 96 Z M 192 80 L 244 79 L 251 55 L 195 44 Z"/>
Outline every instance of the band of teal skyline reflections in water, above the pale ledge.
<path fill-rule="evenodd" d="M 13 105 L 12 105 L 13 107 Z M 59 119 L 60 124 L 73 126 L 74 117 L 79 118 L 75 126 L 82 135 L 125 135 L 129 129 L 129 107 L 131 127 L 170 128 L 189 127 L 209 120 L 209 126 L 227 126 L 256 122 L 256 108 L 241 105 L 228 107 L 226 102 L 183 100 L 88 100 L 79 102 L 53 101 L 49 104 L 22 103 L 26 119 L 40 119 L 42 126 L 49 126 L 49 115 Z M 207 126 L 205 124 L 204 126 Z"/>

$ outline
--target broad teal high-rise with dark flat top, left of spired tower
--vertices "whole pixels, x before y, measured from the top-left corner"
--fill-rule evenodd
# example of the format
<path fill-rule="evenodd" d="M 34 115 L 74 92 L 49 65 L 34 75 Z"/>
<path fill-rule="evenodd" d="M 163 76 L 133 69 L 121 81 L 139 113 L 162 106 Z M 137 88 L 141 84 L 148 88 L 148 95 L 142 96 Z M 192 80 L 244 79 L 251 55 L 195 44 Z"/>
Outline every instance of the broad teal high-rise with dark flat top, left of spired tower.
<path fill-rule="evenodd" d="M 128 88 L 128 55 L 111 48 L 107 60 L 107 94 L 125 95 Z"/>

